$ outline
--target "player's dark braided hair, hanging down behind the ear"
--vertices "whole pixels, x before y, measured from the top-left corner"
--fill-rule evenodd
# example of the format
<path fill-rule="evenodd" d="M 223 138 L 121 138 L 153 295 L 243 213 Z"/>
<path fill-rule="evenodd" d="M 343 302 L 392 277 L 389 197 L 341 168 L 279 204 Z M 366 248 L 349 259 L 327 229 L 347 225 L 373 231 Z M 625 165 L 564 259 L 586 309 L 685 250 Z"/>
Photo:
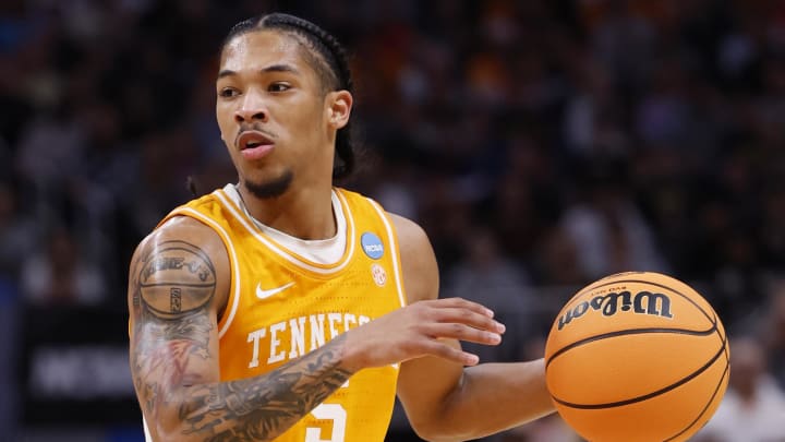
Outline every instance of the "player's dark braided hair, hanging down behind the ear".
<path fill-rule="evenodd" d="M 346 49 L 336 37 L 323 28 L 294 15 L 273 13 L 244 20 L 229 31 L 224 39 L 221 50 L 229 41 L 242 34 L 254 31 L 280 29 L 299 37 L 303 46 L 314 55 L 313 68 L 322 80 L 326 91 L 346 89 L 353 92 L 351 72 L 347 62 Z M 355 146 L 350 122 L 339 129 L 336 134 L 336 163 L 333 178 L 346 178 L 354 170 Z"/>

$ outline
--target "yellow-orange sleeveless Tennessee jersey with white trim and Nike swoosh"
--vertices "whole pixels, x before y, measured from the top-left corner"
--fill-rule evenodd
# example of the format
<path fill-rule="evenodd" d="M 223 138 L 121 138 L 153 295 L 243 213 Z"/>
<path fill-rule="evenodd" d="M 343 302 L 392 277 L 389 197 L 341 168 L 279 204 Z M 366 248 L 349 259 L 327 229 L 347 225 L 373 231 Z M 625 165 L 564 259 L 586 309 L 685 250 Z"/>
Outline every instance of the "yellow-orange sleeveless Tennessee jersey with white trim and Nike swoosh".
<path fill-rule="evenodd" d="M 164 219 L 193 217 L 226 244 L 231 285 L 218 323 L 221 381 L 266 373 L 406 304 L 397 237 L 376 202 L 335 189 L 347 243 L 326 265 L 266 235 L 235 192 L 229 184 Z M 359 371 L 276 441 L 383 441 L 397 377 L 397 365 Z"/>

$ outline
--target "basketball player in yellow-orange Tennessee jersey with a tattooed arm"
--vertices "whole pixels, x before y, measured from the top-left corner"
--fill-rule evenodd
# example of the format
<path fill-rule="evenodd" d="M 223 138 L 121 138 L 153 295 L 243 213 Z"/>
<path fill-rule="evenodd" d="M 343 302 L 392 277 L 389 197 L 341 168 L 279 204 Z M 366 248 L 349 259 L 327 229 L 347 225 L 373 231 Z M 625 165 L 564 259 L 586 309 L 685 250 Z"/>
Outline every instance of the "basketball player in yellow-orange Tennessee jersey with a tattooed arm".
<path fill-rule="evenodd" d="M 333 186 L 351 77 L 316 25 L 271 14 L 225 40 L 216 116 L 239 183 L 176 208 L 131 262 L 131 369 L 156 441 L 464 440 L 553 410 L 542 360 L 479 365 L 504 325 L 437 299 L 423 230 Z M 335 160 L 334 160 L 335 159 Z"/>

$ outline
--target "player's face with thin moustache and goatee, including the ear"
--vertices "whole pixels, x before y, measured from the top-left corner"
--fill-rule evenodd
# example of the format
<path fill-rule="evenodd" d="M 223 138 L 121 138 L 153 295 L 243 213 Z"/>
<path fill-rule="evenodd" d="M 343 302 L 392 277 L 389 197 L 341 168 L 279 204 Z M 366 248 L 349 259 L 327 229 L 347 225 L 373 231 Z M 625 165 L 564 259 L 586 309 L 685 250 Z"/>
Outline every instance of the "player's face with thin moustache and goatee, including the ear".
<path fill-rule="evenodd" d="M 276 31 L 239 35 L 224 49 L 216 117 L 240 182 L 259 198 L 292 186 L 331 186 L 335 133 L 348 92 L 325 92 L 313 57 Z"/>

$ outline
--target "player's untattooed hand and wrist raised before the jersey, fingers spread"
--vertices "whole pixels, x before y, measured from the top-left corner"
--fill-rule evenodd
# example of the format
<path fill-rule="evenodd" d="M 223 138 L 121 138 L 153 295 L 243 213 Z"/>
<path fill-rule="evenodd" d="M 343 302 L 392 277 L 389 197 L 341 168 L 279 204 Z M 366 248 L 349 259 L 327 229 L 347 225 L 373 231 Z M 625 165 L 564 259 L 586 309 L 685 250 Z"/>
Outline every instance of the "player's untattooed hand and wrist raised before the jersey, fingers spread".
<path fill-rule="evenodd" d="M 504 330 L 493 312 L 476 302 L 461 298 L 414 302 L 347 332 L 343 366 L 354 372 L 423 356 L 474 366 L 476 355 L 445 338 L 497 345 Z"/>

